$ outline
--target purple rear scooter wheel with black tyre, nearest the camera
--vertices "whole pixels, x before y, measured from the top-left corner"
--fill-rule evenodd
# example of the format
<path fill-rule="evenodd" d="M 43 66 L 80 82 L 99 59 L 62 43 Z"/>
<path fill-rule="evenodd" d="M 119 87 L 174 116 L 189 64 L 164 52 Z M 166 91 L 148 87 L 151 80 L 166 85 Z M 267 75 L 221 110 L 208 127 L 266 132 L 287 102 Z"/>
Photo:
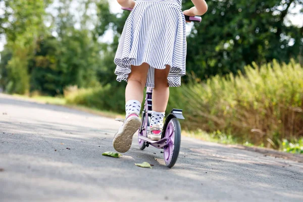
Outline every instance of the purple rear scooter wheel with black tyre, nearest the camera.
<path fill-rule="evenodd" d="M 167 124 L 165 137 L 167 145 L 164 146 L 164 161 L 167 167 L 175 165 L 180 151 L 181 144 L 181 126 L 177 118 L 172 118 Z"/>

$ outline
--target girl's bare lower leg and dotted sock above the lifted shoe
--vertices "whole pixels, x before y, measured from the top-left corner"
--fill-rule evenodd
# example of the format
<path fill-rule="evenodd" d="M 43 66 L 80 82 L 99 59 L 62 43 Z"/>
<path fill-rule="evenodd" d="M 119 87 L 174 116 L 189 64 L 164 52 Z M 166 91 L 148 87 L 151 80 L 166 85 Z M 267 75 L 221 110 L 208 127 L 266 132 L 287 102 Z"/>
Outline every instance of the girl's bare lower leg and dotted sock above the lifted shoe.
<path fill-rule="evenodd" d="M 130 114 L 139 114 L 143 100 L 143 89 L 149 65 L 132 66 L 125 89 L 126 117 Z"/>

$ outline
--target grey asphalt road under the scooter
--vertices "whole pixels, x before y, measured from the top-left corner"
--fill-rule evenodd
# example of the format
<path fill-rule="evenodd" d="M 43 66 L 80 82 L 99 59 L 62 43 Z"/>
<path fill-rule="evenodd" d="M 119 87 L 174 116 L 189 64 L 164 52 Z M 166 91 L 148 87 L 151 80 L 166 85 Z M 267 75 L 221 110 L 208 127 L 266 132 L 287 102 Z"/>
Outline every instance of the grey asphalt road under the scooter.
<path fill-rule="evenodd" d="M 303 201 L 302 163 L 221 144 L 182 137 L 172 169 L 136 135 L 102 156 L 120 124 L 0 94 L 0 201 Z"/>

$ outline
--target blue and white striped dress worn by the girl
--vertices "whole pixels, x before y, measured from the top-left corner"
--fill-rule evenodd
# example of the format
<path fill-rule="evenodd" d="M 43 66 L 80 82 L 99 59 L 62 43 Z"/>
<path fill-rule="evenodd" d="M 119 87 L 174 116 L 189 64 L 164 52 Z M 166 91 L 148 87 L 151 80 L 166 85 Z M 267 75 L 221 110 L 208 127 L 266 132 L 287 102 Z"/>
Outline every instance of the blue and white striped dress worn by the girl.
<path fill-rule="evenodd" d="M 120 38 L 115 64 L 117 81 L 127 81 L 131 65 L 149 64 L 147 87 L 155 87 L 155 68 L 169 65 L 169 86 L 185 75 L 186 27 L 182 0 L 137 0 Z"/>

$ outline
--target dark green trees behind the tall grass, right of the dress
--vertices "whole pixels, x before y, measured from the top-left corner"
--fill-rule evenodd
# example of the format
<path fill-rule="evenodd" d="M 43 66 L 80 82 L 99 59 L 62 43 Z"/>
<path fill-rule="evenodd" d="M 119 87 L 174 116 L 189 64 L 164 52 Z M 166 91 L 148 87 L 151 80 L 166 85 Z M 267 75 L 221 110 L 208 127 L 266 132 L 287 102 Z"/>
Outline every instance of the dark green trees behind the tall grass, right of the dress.
<path fill-rule="evenodd" d="M 187 39 L 187 71 L 199 78 L 237 73 L 252 62 L 288 62 L 302 56 L 302 28 L 286 26 L 285 16 L 301 0 L 208 1 L 209 10 Z M 192 6 L 184 1 L 184 8 Z M 293 43 L 293 44 L 292 44 Z"/>

